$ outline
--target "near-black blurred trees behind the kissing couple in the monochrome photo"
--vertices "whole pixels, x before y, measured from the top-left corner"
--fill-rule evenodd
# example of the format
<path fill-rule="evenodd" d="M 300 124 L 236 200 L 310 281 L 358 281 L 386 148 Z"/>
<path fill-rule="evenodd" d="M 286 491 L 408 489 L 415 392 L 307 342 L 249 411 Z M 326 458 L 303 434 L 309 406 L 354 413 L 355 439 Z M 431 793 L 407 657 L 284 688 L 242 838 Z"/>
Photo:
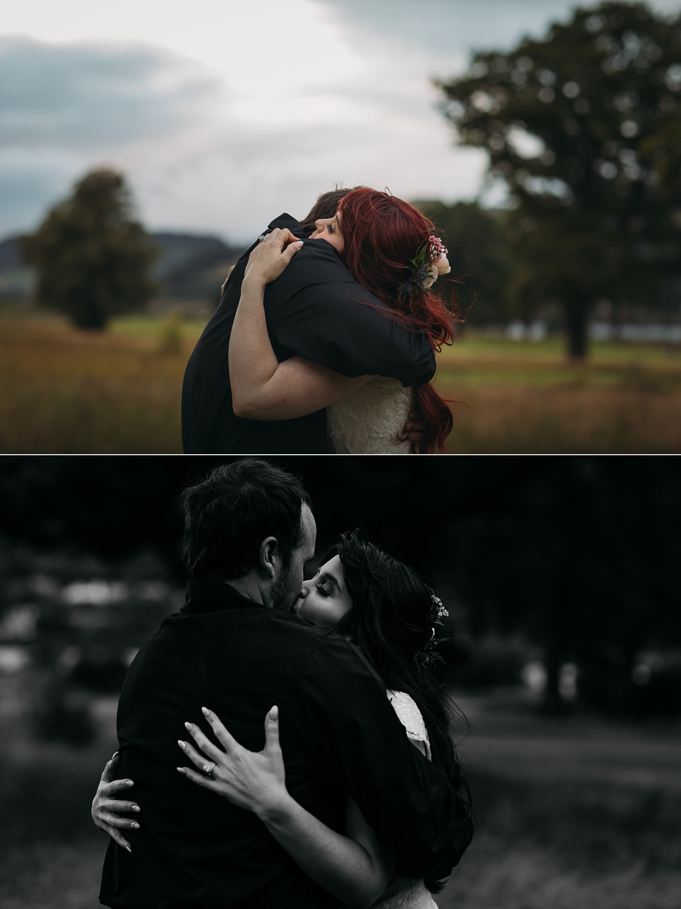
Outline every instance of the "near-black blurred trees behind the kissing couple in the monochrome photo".
<path fill-rule="evenodd" d="M 0 535 L 46 549 L 77 545 L 108 560 L 152 547 L 181 584 L 179 493 L 230 460 L 6 457 Z M 681 712 L 676 458 L 270 460 L 302 475 L 318 552 L 359 525 L 438 585 L 451 614 L 442 634 L 452 638 L 448 654 L 462 680 L 511 681 L 524 659 L 536 658 L 514 643 L 522 640 L 546 663 L 548 704 L 561 703 L 560 666 L 571 661 L 584 703 L 611 713 Z M 128 647 L 144 639 L 144 623 L 130 630 L 135 602 L 109 608 L 100 637 L 88 632 L 89 654 L 112 623 L 121 645 L 125 635 Z M 65 621 L 63 607 L 54 615 Z M 466 668 L 471 650 L 476 663 Z M 95 684 L 99 670 L 78 672 Z"/>

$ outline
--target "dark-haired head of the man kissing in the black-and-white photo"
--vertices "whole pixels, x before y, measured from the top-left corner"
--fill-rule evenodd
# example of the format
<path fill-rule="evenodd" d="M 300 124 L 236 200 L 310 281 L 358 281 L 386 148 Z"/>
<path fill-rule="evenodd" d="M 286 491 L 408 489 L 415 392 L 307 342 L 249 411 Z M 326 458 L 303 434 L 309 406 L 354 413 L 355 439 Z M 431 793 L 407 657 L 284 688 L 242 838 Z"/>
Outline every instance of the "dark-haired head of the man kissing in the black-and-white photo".
<path fill-rule="evenodd" d="M 266 461 L 215 467 L 185 489 L 184 560 L 195 581 L 233 584 L 252 599 L 289 609 L 315 552 L 305 487 Z"/>

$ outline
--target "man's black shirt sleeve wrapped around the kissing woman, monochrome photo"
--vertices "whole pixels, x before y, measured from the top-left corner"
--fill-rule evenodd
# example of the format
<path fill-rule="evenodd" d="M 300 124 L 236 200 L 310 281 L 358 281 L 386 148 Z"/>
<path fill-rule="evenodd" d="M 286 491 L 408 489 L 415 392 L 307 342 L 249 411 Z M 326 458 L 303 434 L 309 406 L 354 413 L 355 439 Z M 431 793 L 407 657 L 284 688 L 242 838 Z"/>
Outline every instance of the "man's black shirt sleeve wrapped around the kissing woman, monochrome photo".
<path fill-rule="evenodd" d="M 365 660 L 351 644 L 329 634 L 317 645 L 300 684 L 308 748 L 330 780 L 353 796 L 378 838 L 396 852 L 400 873 L 450 874 L 470 841 L 469 814 L 445 774 L 409 743 Z"/>

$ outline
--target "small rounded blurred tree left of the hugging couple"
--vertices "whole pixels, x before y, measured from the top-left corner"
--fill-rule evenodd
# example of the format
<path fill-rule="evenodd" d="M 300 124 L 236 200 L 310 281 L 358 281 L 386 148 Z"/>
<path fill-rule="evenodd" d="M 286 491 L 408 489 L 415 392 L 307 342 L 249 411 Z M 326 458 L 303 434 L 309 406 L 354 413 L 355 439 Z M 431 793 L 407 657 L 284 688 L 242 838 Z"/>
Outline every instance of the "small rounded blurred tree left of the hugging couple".
<path fill-rule="evenodd" d="M 103 329 L 112 315 L 141 309 L 155 294 L 148 273 L 157 248 L 135 221 L 125 178 L 113 170 L 85 175 L 21 245 L 38 269 L 37 300 L 79 328 Z"/>

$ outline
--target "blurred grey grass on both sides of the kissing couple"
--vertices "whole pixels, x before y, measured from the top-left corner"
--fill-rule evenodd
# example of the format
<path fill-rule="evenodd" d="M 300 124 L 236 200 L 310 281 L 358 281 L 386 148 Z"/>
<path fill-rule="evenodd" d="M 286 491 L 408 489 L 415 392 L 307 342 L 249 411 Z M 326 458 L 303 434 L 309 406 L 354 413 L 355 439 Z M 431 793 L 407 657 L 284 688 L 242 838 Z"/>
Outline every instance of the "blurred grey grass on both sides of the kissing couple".
<path fill-rule="evenodd" d="M 576 715 L 551 720 L 514 692 L 459 701 L 476 837 L 440 909 L 677 909 L 681 731 Z M 89 804 L 115 747 L 36 744 L 0 718 L 0 904 L 95 909 L 106 840 Z"/>

